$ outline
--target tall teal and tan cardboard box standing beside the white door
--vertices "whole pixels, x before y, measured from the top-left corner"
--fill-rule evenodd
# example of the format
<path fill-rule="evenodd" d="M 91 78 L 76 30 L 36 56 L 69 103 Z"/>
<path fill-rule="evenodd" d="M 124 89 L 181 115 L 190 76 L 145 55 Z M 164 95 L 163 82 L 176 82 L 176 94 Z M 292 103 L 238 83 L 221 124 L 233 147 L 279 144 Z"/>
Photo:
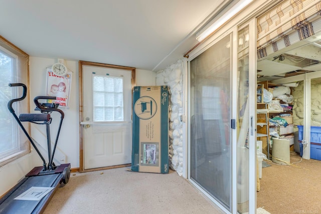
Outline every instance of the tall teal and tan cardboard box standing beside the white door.
<path fill-rule="evenodd" d="M 131 170 L 169 173 L 168 86 L 133 89 Z"/>

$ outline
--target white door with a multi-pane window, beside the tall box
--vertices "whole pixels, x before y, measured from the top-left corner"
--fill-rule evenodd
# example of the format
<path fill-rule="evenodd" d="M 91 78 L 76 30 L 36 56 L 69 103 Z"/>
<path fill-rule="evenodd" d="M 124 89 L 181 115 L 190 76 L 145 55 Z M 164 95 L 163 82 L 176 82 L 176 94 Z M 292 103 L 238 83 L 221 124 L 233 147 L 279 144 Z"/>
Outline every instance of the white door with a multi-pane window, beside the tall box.
<path fill-rule="evenodd" d="M 83 66 L 84 169 L 131 162 L 131 72 Z"/>

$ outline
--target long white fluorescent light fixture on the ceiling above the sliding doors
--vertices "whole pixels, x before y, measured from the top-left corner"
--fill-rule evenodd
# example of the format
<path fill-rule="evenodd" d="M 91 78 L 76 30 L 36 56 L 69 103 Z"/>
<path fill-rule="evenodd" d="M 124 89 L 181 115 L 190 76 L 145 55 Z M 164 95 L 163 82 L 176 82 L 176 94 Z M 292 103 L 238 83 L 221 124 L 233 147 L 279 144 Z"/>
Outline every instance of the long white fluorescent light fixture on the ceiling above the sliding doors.
<path fill-rule="evenodd" d="M 248 4 L 250 4 L 253 0 L 244 0 L 238 2 L 235 6 L 233 6 L 227 13 L 225 13 L 220 19 L 214 22 L 208 29 L 203 31 L 196 39 L 201 42 L 210 34 L 212 34 L 215 30 L 221 27 L 224 23 L 226 23 L 229 19 L 235 16 L 238 12 L 240 12 L 243 8 L 245 8 Z"/>

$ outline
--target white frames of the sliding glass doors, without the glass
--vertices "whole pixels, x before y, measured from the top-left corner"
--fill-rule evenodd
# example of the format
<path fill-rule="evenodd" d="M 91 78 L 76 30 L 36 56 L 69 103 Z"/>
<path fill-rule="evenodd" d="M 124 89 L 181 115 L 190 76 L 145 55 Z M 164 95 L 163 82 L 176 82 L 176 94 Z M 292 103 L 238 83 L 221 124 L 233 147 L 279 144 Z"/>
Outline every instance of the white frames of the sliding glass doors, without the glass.
<path fill-rule="evenodd" d="M 249 25 L 250 32 L 256 32 L 256 18 L 251 19 L 246 25 Z M 245 26 L 245 25 L 242 25 Z M 238 26 L 234 26 L 230 30 L 217 34 L 214 34 L 213 37 L 215 38 L 212 41 L 206 41 L 204 44 L 196 49 L 195 51 L 191 52 L 189 59 L 187 60 L 187 97 L 191 97 L 191 89 L 190 89 L 190 61 L 195 59 L 205 50 L 213 46 L 215 43 L 219 42 L 222 38 L 232 33 L 232 71 L 231 71 L 231 118 L 236 120 L 237 115 L 237 96 L 236 92 L 238 90 L 238 82 L 237 82 L 237 72 L 238 72 Z M 216 36 L 216 37 L 215 37 Z M 250 43 L 249 43 L 249 213 L 256 213 L 256 33 L 249 34 Z M 187 99 L 190 100 L 190 99 Z M 191 121 L 190 121 L 190 114 L 191 114 L 191 103 L 187 103 L 187 130 L 191 128 Z M 208 198 L 210 198 L 218 207 L 220 207 L 226 213 L 237 213 L 237 158 L 236 158 L 236 146 L 237 146 L 237 130 L 231 130 L 231 212 L 227 210 L 222 204 L 220 204 L 217 200 L 215 200 L 211 195 L 209 195 L 205 190 L 198 187 L 198 185 L 191 179 L 190 174 L 190 166 L 191 166 L 191 132 L 187 131 L 187 146 L 188 146 L 188 179 L 189 181 L 194 184 L 202 193 L 204 193 Z"/>

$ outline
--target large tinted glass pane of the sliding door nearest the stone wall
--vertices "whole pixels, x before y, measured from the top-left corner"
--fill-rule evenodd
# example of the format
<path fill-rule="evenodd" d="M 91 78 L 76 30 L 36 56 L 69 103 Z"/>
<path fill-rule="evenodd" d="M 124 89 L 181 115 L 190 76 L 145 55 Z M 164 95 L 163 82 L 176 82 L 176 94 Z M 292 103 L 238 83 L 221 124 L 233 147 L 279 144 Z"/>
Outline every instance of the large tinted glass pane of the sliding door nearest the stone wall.
<path fill-rule="evenodd" d="M 190 62 L 190 178 L 231 206 L 232 33 Z"/>

